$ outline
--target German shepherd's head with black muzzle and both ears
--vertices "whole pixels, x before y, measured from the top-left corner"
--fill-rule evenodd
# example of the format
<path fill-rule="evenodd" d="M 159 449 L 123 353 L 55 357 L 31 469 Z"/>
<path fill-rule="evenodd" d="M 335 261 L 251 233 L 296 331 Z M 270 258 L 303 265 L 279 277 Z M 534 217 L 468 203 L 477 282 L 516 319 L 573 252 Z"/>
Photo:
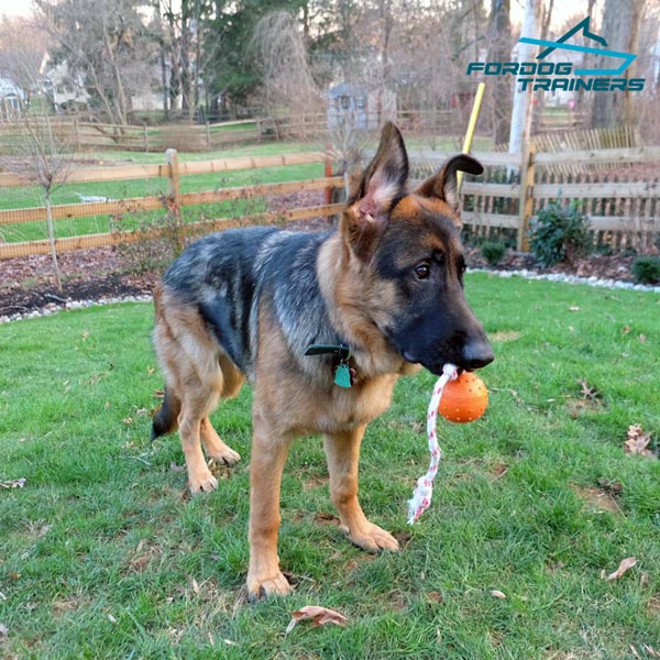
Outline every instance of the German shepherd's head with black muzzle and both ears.
<path fill-rule="evenodd" d="M 454 156 L 408 193 L 404 140 L 387 123 L 340 229 L 367 285 L 371 320 L 404 360 L 435 374 L 448 362 L 474 370 L 493 361 L 463 293 L 458 170 L 482 174 L 483 167 L 472 156 Z"/>

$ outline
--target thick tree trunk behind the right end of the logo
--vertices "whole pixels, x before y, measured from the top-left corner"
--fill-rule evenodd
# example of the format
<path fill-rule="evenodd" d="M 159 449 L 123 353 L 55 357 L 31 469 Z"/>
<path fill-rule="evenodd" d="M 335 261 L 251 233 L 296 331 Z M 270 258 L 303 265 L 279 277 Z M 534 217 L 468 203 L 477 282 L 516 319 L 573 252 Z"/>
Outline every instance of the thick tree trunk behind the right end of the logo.
<path fill-rule="evenodd" d="M 606 0 L 601 34 L 610 51 L 637 53 L 637 34 L 644 0 Z M 635 76 L 635 62 L 623 73 Z M 619 76 L 617 76 L 619 77 Z M 632 95 L 629 91 L 607 91 L 594 95 L 592 129 L 632 123 Z"/>

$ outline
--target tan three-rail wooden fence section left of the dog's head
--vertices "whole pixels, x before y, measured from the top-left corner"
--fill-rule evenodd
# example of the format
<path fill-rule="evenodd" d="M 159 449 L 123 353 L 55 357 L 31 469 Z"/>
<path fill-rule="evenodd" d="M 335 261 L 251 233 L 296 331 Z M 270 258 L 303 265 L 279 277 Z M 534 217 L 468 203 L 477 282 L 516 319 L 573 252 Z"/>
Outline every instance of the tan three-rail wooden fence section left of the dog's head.
<path fill-rule="evenodd" d="M 199 193 L 184 194 L 180 191 L 180 179 L 184 176 L 215 173 L 222 174 L 239 169 L 258 169 L 264 167 L 305 165 L 312 163 L 326 163 L 327 176 L 308 180 L 260 184 L 256 186 L 241 186 L 234 188 L 217 188 Z M 175 150 L 167 150 L 166 163 L 161 165 L 88 167 L 72 172 L 67 178 L 67 184 L 163 178 L 166 180 L 167 188 L 165 195 L 58 205 L 52 207 L 52 217 L 57 227 L 58 220 L 70 218 L 124 216 L 148 210 L 180 213 L 180 210 L 187 206 L 287 195 L 302 190 L 326 190 L 327 204 L 305 208 L 294 208 L 284 212 L 266 212 L 243 217 L 204 220 L 200 222 L 188 222 L 183 224 L 183 230 L 186 232 L 198 233 L 201 231 L 213 231 L 244 224 L 290 222 L 307 218 L 329 217 L 338 213 L 341 209 L 341 205 L 328 204 L 330 197 L 329 191 L 333 188 L 341 188 L 344 185 L 343 177 L 328 176 L 329 169 L 330 165 L 328 156 L 321 152 L 179 163 L 177 152 Z M 7 189 L 8 187 L 28 185 L 30 185 L 29 182 L 21 179 L 14 174 L 0 174 L 0 194 L 2 193 L 2 189 Z M 45 227 L 45 208 L 33 207 L 0 210 L 0 229 L 3 226 L 20 226 L 21 223 L 28 222 L 44 222 Z M 166 232 L 167 230 L 165 229 L 153 229 L 147 232 L 106 231 L 87 235 L 57 238 L 55 240 L 55 249 L 57 252 L 67 252 L 85 248 L 133 243 L 142 241 L 145 238 L 157 238 L 158 235 L 164 235 Z M 31 254 L 46 254 L 48 251 L 50 243 L 47 240 L 0 243 L 0 260 Z"/>

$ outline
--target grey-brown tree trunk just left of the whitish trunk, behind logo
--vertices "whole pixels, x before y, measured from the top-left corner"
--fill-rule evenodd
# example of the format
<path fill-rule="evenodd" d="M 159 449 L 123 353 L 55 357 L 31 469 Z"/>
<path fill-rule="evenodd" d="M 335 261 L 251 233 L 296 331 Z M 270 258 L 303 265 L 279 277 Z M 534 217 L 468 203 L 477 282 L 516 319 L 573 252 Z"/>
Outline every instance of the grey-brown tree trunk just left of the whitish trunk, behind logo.
<path fill-rule="evenodd" d="M 493 0 L 491 9 L 491 46 L 488 62 L 510 62 L 512 21 L 510 0 Z M 509 139 L 512 116 L 512 76 L 494 76 L 491 86 L 491 107 L 493 108 L 493 138 L 495 144 Z"/>

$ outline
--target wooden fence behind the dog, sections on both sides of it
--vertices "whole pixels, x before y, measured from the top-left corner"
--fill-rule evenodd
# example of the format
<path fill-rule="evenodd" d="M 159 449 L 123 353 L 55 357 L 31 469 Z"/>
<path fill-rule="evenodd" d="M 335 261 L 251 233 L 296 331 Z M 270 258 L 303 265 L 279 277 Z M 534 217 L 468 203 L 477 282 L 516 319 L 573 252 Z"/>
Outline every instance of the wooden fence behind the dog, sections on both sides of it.
<path fill-rule="evenodd" d="M 438 152 L 411 154 L 414 177 L 437 170 L 450 154 Z M 520 251 L 529 249 L 529 227 L 537 211 L 551 200 L 573 204 L 585 215 L 597 243 L 615 249 L 634 248 L 646 251 L 660 237 L 660 146 L 614 150 L 581 150 L 574 152 L 540 152 L 530 144 L 524 154 L 475 152 L 485 166 L 484 176 L 463 183 L 463 221 L 469 230 L 483 239 L 515 237 Z M 223 173 L 235 169 L 326 163 L 326 176 L 305 182 L 262 184 L 182 194 L 180 177 L 195 174 Z M 167 162 L 161 165 L 89 167 L 72 173 L 69 182 L 125 180 L 161 177 L 167 182 L 165 195 L 134 197 L 122 200 L 86 201 L 53 207 L 55 223 L 66 218 L 131 215 L 145 210 L 173 210 L 183 207 L 226 200 L 286 195 L 301 190 L 331 190 L 343 186 L 342 177 L 329 176 L 331 164 L 320 152 L 282 156 L 242 157 L 179 163 L 174 150 L 167 151 Z M 24 185 L 12 174 L 0 174 L 0 194 L 8 186 Z M 210 231 L 235 224 L 292 221 L 328 217 L 339 212 L 341 205 L 329 204 L 298 208 L 284 213 L 258 213 L 241 218 L 205 220 L 186 223 L 199 231 Z M 43 207 L 0 210 L 2 226 L 43 222 Z M 154 230 L 155 234 L 157 231 Z M 154 235 L 155 235 L 154 234 Z M 56 240 L 58 251 L 99 245 L 117 245 L 140 241 L 144 232 L 116 231 Z M 0 244 L 0 258 L 42 254 L 48 242 L 24 241 Z"/>

